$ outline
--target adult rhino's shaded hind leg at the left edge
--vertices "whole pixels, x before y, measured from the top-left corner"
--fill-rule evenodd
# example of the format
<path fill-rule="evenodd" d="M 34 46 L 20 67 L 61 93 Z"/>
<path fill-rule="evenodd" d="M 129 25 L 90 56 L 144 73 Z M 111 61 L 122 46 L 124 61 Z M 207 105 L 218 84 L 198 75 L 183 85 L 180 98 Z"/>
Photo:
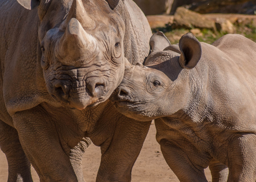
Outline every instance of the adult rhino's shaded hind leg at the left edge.
<path fill-rule="evenodd" d="M 15 128 L 0 121 L 0 147 L 8 162 L 8 182 L 33 182 L 30 162 Z"/>

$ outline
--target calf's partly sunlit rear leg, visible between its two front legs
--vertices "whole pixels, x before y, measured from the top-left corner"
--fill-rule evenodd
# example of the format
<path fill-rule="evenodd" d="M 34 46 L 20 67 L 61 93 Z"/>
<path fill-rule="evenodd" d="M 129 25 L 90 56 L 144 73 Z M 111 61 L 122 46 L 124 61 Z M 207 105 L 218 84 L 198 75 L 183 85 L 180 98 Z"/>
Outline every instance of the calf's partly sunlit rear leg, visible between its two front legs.
<path fill-rule="evenodd" d="M 213 159 L 210 161 L 209 169 L 212 174 L 212 182 L 226 182 L 228 180 L 229 168 L 226 165 Z"/>

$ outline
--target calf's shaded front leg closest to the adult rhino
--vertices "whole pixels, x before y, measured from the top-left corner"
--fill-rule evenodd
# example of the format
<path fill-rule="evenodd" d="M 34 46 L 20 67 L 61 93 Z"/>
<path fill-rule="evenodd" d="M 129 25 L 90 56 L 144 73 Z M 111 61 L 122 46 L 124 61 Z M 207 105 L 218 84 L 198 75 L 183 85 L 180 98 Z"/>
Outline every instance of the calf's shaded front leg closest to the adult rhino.
<path fill-rule="evenodd" d="M 160 141 L 165 161 L 181 182 L 208 182 L 204 168 L 193 163 L 186 152 L 166 139 Z"/>

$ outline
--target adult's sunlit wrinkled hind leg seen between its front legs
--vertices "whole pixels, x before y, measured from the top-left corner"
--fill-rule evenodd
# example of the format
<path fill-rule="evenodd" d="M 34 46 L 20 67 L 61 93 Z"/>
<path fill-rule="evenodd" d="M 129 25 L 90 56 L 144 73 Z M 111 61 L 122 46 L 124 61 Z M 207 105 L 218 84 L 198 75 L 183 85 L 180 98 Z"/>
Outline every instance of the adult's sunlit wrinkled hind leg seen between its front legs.
<path fill-rule="evenodd" d="M 75 175 L 78 179 L 78 182 L 85 182 L 83 176 L 83 166 L 82 159 L 85 153 L 85 150 L 91 144 L 90 138 L 84 137 L 75 148 L 72 148 L 69 153 L 70 162 L 75 171 Z"/>

